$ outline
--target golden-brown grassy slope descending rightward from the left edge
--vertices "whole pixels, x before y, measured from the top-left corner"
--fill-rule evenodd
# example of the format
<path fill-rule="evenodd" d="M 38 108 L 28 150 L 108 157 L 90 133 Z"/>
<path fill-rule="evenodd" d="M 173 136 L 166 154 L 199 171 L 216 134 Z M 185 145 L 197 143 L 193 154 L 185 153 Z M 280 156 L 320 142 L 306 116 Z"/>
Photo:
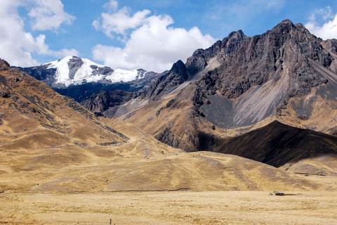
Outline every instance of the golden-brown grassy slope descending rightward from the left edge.
<path fill-rule="evenodd" d="M 0 61 L 1 149 L 58 148 L 125 143 L 71 98 Z"/>

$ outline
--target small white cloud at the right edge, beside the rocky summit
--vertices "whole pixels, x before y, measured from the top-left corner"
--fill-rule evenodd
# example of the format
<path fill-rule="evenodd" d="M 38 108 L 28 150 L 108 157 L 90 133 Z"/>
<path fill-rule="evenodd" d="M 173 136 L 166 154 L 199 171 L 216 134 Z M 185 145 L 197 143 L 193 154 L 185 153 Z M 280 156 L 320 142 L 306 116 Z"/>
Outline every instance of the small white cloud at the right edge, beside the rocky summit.
<path fill-rule="evenodd" d="M 337 14 L 333 15 L 331 8 L 319 9 L 310 15 L 310 21 L 305 27 L 322 39 L 337 39 Z M 323 25 L 319 25 L 317 20 L 323 20 Z"/>

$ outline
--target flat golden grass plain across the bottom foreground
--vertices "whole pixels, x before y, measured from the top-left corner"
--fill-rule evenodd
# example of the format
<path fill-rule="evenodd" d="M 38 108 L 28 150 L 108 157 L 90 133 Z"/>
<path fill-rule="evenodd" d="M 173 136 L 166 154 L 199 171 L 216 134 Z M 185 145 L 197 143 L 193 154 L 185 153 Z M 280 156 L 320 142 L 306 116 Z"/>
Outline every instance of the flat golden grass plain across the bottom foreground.
<path fill-rule="evenodd" d="M 0 224 L 337 224 L 337 192 L 0 193 Z"/>

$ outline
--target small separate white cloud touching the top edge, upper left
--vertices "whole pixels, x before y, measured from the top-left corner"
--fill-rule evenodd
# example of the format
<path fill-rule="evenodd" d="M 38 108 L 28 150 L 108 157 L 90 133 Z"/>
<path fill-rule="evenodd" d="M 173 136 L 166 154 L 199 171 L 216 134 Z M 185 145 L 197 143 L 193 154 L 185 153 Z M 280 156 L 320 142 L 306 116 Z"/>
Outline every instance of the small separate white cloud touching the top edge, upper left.
<path fill-rule="evenodd" d="M 71 25 L 75 17 L 65 13 L 60 0 L 34 0 L 28 15 L 34 30 L 55 30 L 62 23 Z"/>

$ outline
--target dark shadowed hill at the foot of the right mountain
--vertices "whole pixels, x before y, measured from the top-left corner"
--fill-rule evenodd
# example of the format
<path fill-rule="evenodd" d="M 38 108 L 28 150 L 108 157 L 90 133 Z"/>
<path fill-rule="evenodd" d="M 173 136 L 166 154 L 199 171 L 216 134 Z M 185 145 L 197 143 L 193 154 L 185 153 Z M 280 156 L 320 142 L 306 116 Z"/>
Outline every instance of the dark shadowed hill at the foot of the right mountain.
<path fill-rule="evenodd" d="M 214 150 L 280 167 L 322 155 L 337 156 L 337 137 L 274 121 L 242 136 L 227 139 Z"/>

